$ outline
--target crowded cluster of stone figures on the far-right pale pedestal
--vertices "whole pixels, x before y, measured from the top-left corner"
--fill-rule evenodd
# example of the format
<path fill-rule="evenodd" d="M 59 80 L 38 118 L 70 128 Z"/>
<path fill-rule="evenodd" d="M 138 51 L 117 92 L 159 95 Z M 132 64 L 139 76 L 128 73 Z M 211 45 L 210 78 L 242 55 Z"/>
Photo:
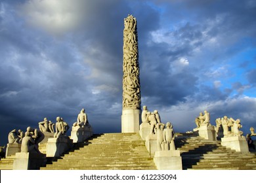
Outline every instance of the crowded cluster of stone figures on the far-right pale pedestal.
<path fill-rule="evenodd" d="M 242 136 L 243 131 L 240 131 L 239 129 L 242 128 L 240 119 L 234 120 L 233 118 L 228 118 L 227 116 L 224 116 L 223 118 L 217 118 L 215 120 L 216 122 L 216 133 L 219 132 L 219 129 L 222 125 L 223 127 L 223 135 L 224 137 L 229 136 Z"/>

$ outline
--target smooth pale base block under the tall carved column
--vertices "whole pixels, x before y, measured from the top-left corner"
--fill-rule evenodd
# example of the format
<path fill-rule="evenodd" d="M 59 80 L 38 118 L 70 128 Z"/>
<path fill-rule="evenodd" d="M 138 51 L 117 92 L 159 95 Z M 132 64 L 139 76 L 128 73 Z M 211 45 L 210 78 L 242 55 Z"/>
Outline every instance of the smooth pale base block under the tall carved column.
<path fill-rule="evenodd" d="M 124 109 L 121 116 L 122 133 L 139 133 L 140 125 L 139 109 Z"/>

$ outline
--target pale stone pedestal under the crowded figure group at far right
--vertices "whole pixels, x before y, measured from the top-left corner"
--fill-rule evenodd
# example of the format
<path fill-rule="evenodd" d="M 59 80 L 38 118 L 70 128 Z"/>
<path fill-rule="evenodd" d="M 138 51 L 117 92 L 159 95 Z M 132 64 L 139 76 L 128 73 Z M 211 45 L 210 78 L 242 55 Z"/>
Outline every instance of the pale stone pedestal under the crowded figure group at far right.
<path fill-rule="evenodd" d="M 221 145 L 236 150 L 236 152 L 249 152 L 248 144 L 244 136 L 223 137 L 221 138 Z"/>

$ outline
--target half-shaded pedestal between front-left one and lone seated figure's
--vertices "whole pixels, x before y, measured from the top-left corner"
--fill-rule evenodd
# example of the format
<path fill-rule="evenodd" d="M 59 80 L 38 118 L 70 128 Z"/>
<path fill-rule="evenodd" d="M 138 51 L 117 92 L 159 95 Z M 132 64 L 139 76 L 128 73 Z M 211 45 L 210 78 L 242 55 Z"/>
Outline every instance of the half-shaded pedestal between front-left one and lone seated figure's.
<path fill-rule="evenodd" d="M 46 156 L 59 157 L 72 148 L 73 141 L 67 136 L 48 139 Z"/>

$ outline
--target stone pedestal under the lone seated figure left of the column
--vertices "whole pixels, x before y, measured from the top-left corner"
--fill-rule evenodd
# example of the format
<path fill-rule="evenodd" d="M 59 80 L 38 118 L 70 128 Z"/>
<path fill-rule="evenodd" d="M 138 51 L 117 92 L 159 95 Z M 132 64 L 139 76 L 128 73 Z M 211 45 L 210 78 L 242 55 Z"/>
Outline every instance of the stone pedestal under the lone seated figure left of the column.
<path fill-rule="evenodd" d="M 70 139 L 73 143 L 84 142 L 93 135 L 93 128 L 89 125 L 72 127 Z"/>

